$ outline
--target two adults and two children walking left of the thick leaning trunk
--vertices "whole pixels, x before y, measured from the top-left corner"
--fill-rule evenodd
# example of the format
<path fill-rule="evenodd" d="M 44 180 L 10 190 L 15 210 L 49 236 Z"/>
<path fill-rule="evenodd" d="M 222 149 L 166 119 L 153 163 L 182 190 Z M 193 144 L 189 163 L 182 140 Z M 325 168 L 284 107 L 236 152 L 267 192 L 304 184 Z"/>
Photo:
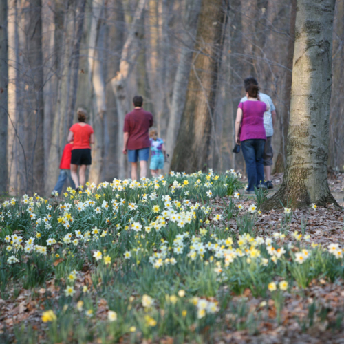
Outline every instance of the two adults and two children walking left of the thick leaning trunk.
<path fill-rule="evenodd" d="M 158 138 L 158 129 L 153 127 L 153 116 L 142 108 L 142 96 L 133 97 L 133 111 L 125 116 L 123 154 L 128 155 L 131 162 L 131 179 L 138 179 L 138 161 L 140 178 L 147 177 L 147 162 L 151 152 L 151 175 L 157 177 L 164 168 L 166 149 L 164 141 Z M 87 166 L 92 164 L 91 144 L 94 143 L 94 130 L 86 123 L 87 112 L 79 108 L 78 123 L 69 129 L 67 141 L 63 149 L 60 163 L 60 175 L 52 191 L 52 195 L 60 195 L 65 181 L 73 189 L 78 190 L 85 185 Z"/>

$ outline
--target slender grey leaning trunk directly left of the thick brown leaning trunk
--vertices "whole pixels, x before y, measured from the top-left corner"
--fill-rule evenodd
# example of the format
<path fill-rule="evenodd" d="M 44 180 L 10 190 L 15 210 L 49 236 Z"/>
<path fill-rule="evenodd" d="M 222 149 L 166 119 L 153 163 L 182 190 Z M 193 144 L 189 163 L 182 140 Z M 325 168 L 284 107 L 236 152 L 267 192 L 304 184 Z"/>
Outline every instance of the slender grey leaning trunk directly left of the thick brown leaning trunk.
<path fill-rule="evenodd" d="M 175 140 L 177 139 L 180 119 L 185 106 L 186 91 L 189 83 L 189 74 L 193 58 L 193 47 L 195 45 L 195 35 L 197 30 L 197 21 L 200 14 L 202 0 L 186 0 L 183 33 L 183 47 L 180 52 L 178 69 L 175 73 L 173 83 L 173 96 L 171 102 L 171 113 L 169 116 L 169 125 L 166 132 L 166 151 L 172 155 L 175 149 Z M 167 169 L 169 166 L 165 165 Z"/>

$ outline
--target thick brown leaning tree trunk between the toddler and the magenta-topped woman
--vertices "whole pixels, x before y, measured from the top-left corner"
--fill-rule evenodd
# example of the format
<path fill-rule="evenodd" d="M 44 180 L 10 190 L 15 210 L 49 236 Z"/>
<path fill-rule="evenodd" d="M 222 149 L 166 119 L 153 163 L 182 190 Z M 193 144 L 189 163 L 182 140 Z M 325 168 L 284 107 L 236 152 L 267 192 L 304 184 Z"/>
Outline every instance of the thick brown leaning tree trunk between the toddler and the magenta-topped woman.
<path fill-rule="evenodd" d="M 206 168 L 211 133 L 215 130 L 217 73 L 227 10 L 228 0 L 202 1 L 186 105 L 171 162 L 173 171 L 192 173 Z"/>

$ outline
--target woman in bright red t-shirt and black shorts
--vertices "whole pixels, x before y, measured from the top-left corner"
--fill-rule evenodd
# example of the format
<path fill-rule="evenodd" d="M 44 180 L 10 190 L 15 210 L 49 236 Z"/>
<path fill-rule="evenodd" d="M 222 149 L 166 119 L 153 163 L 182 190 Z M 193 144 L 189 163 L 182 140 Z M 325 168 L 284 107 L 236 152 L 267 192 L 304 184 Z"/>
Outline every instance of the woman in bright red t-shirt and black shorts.
<path fill-rule="evenodd" d="M 85 171 L 87 166 L 92 164 L 90 144 L 94 143 L 94 131 L 92 127 L 86 123 L 86 114 L 87 112 L 84 109 L 78 109 L 79 122 L 72 125 L 68 134 L 68 142 L 74 141 L 72 159 L 70 161 L 70 173 L 76 189 L 78 189 L 80 185 L 85 185 Z M 78 166 L 80 166 L 79 178 Z"/>

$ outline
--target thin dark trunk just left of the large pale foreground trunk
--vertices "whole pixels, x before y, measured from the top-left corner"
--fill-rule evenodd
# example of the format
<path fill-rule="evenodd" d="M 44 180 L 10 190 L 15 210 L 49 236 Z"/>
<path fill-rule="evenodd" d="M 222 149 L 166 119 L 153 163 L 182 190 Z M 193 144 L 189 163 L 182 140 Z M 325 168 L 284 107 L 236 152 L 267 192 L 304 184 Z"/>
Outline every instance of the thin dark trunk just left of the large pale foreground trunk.
<path fill-rule="evenodd" d="M 290 114 L 290 92 L 292 89 L 292 57 L 294 56 L 294 39 L 295 39 L 295 21 L 297 17 L 297 0 L 292 0 L 290 13 L 290 33 L 287 47 L 287 65 L 289 70 L 286 71 L 286 81 L 283 89 L 283 107 L 281 109 L 280 125 L 281 125 L 281 144 L 279 153 L 275 163 L 273 173 L 281 173 L 284 171 L 286 164 L 286 142 L 288 136 L 288 122 Z"/>

